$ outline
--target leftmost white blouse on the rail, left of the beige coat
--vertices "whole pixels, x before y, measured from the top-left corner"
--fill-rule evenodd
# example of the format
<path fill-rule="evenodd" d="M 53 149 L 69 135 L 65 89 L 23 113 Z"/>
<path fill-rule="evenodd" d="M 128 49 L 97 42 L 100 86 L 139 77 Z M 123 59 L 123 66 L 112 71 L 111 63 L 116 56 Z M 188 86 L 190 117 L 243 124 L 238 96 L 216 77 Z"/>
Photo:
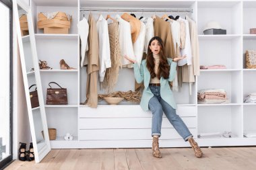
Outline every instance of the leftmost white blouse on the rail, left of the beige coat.
<path fill-rule="evenodd" d="M 86 51 L 88 51 L 89 24 L 85 17 L 78 22 L 77 28 L 81 39 L 81 67 L 83 67 L 88 63 L 86 60 Z"/>

